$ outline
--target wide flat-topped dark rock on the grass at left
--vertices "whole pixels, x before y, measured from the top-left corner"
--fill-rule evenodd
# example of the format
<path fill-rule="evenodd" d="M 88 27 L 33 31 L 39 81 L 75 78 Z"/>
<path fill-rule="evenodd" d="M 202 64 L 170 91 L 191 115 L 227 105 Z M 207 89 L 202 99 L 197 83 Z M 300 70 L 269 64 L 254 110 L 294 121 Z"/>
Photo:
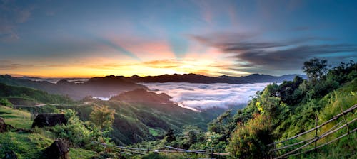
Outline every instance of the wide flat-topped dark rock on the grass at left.
<path fill-rule="evenodd" d="M 34 119 L 32 128 L 35 126 L 42 128 L 44 126 L 56 126 L 59 124 L 67 124 L 64 114 L 39 114 Z"/>

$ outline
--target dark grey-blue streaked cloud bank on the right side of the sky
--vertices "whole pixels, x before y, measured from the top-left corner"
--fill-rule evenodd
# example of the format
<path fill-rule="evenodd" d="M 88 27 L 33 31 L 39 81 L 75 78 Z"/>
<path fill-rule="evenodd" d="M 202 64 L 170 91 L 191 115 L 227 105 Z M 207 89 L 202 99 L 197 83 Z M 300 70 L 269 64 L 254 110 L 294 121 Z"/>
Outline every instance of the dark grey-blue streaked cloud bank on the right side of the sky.
<path fill-rule="evenodd" d="M 217 40 L 217 38 L 211 36 L 193 35 L 191 37 L 203 43 L 203 45 L 218 48 L 223 53 L 228 53 L 237 61 L 247 62 L 244 65 L 237 64 L 233 68 L 237 70 L 241 70 L 241 67 L 248 67 L 244 70 L 300 70 L 303 62 L 311 57 L 323 57 L 333 62 L 336 62 L 336 60 L 341 62 L 343 59 L 356 59 L 357 57 L 356 44 L 331 44 L 332 38 L 304 37 L 266 42 L 253 40 L 248 36 L 224 40 Z"/>

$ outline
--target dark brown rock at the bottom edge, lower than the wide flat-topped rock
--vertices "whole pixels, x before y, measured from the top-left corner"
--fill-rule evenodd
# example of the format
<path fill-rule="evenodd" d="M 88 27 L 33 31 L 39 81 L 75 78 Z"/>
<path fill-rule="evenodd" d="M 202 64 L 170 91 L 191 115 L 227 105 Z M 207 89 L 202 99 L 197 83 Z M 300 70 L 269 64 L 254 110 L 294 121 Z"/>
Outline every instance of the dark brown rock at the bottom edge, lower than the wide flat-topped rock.
<path fill-rule="evenodd" d="M 64 141 L 54 141 L 44 153 L 48 159 L 69 159 L 69 146 Z"/>

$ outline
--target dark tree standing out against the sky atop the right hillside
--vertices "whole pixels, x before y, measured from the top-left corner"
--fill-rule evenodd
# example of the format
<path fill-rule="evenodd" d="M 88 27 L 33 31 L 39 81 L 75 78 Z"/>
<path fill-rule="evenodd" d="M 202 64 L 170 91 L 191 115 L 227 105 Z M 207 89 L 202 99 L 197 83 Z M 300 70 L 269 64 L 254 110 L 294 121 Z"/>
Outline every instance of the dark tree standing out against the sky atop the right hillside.
<path fill-rule="evenodd" d="M 327 71 L 327 60 L 313 58 L 303 62 L 303 72 L 306 72 L 308 79 L 312 82 L 317 82 L 323 75 L 326 75 Z"/>

